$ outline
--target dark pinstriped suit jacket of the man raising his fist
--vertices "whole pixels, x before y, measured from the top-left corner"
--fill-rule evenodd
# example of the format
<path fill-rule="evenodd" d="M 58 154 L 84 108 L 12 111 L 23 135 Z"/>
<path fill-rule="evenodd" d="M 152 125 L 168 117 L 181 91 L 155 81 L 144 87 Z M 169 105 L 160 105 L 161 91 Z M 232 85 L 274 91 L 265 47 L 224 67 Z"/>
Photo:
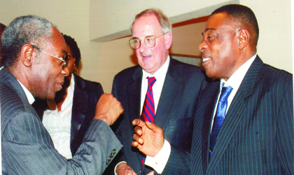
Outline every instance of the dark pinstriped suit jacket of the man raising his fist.
<path fill-rule="evenodd" d="M 102 120 L 93 120 L 72 160 L 55 150 L 20 83 L 0 71 L 2 174 L 102 174 L 122 145 Z"/>

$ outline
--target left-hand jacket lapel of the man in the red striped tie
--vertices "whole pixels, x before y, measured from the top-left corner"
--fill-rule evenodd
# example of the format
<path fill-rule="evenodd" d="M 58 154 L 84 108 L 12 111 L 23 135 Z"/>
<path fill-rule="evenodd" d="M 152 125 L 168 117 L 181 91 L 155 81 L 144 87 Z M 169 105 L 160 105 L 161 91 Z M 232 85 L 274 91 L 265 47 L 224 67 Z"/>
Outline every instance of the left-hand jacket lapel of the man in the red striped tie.
<path fill-rule="evenodd" d="M 132 135 L 134 134 L 134 126 L 132 121 L 135 118 L 140 118 L 140 104 L 141 104 L 141 82 L 142 82 L 142 69 L 139 66 L 132 76 L 133 82 L 127 85 L 127 97 L 128 97 L 128 106 L 129 106 L 129 119 L 130 119 L 130 128 Z M 141 162 L 141 155 L 137 154 L 138 161 Z"/>

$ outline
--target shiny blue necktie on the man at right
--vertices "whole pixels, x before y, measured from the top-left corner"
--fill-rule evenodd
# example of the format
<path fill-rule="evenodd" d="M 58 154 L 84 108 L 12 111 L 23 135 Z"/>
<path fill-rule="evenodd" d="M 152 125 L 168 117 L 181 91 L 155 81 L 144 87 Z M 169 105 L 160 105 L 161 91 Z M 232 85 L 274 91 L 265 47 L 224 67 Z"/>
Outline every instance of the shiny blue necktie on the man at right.
<path fill-rule="evenodd" d="M 218 108 L 216 109 L 216 116 L 214 116 L 214 125 L 211 130 L 211 137 L 209 142 L 209 160 L 214 152 L 214 146 L 216 145 L 216 139 L 218 138 L 218 132 L 221 130 L 221 125 L 223 125 L 223 120 L 225 119 L 225 113 L 228 106 L 228 97 L 232 92 L 232 87 L 223 87 L 225 83 L 222 84 L 221 97 L 218 100 Z"/>

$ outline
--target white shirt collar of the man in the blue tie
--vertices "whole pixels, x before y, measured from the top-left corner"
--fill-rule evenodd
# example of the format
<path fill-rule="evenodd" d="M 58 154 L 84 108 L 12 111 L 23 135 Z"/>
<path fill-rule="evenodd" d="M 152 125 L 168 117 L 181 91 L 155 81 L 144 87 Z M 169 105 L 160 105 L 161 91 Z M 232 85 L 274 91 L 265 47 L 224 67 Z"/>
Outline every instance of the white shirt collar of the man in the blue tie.
<path fill-rule="evenodd" d="M 221 84 L 225 83 L 225 87 L 229 86 L 233 88 L 233 90 L 238 90 L 242 80 L 244 78 L 244 76 L 246 75 L 249 67 L 251 66 L 251 64 L 253 63 L 254 59 L 256 57 L 256 54 L 253 55 L 253 57 L 251 57 L 250 59 L 248 59 L 243 65 L 241 65 L 239 67 L 239 69 L 237 69 L 237 71 L 235 71 L 232 76 L 228 79 L 228 81 L 225 81 L 223 79 L 221 79 Z"/>

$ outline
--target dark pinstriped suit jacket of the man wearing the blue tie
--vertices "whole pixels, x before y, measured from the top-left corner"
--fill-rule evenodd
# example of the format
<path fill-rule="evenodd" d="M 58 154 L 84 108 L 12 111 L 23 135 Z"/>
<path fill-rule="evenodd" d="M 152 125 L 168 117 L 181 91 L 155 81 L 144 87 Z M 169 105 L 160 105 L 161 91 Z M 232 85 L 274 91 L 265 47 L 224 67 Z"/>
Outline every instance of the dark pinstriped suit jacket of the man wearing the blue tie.
<path fill-rule="evenodd" d="M 219 91 L 216 81 L 200 97 L 191 155 L 178 154 L 181 174 L 294 174 L 292 74 L 255 58 L 228 109 L 209 162 L 211 120 Z M 166 172 L 174 172 L 174 155 L 179 151 L 172 152 Z M 183 173 L 189 167 L 191 172 Z"/>

